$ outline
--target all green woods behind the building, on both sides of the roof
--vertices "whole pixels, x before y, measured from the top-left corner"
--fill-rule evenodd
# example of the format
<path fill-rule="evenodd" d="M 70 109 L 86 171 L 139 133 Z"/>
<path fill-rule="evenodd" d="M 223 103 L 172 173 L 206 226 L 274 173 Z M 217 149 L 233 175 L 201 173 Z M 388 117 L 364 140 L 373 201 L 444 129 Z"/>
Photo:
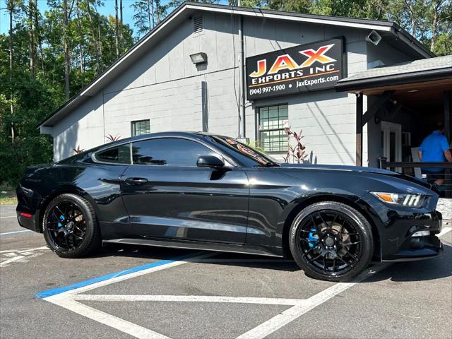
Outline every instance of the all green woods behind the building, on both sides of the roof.
<path fill-rule="evenodd" d="M 47 0 L 45 13 L 37 0 L 3 1 L 11 20 L 8 32 L 0 35 L 0 182 L 16 183 L 26 166 L 52 160 L 52 140 L 40 134 L 37 124 L 134 39 L 122 20 L 122 0 Z M 180 4 L 134 1 L 135 34 L 144 35 Z M 112 15 L 101 15 L 103 6 Z M 452 54 L 451 0 L 242 0 L 241 6 L 394 20 L 436 54 Z"/>

